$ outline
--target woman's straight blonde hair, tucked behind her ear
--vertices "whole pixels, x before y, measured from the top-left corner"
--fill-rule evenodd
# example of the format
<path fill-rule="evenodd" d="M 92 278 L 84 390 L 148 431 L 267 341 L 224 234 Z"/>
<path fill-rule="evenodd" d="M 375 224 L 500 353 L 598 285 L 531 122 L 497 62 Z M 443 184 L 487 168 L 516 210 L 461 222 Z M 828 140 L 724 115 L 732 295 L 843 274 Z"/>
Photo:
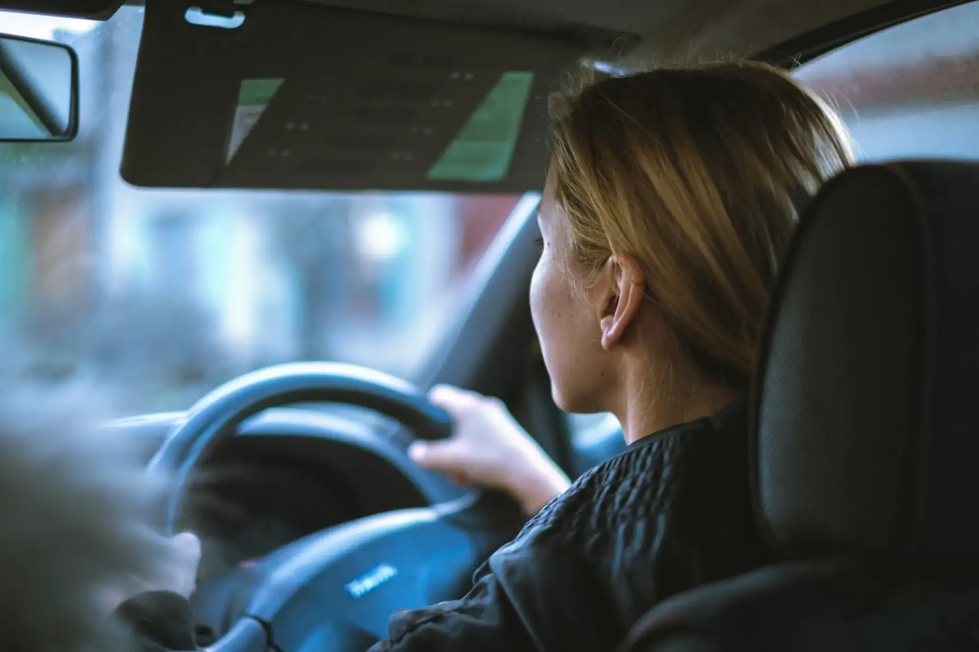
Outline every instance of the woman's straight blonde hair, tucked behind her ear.
<path fill-rule="evenodd" d="M 576 259 L 633 255 L 689 362 L 746 387 L 798 214 L 851 162 L 839 118 L 781 69 L 722 63 L 584 79 L 552 96 L 551 139 Z"/>

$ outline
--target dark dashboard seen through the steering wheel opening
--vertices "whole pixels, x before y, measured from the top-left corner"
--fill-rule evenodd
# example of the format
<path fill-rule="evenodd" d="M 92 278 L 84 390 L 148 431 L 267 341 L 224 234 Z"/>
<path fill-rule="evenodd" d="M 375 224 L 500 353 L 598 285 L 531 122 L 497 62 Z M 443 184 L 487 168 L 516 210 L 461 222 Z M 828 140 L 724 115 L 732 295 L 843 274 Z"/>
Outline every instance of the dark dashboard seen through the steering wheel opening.
<path fill-rule="evenodd" d="M 107 425 L 155 455 L 182 413 Z M 245 421 L 191 476 L 177 526 L 202 540 L 213 578 L 306 535 L 351 519 L 463 495 L 405 453 L 410 433 L 375 413 L 330 405 L 277 408 Z"/>

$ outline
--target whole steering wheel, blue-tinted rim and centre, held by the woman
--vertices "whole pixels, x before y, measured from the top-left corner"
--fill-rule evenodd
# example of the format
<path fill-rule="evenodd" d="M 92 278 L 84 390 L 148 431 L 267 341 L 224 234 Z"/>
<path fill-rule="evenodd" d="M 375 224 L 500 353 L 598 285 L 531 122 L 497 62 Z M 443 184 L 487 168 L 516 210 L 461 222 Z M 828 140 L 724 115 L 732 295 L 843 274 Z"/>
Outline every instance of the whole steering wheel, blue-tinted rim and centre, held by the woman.
<path fill-rule="evenodd" d="M 451 433 L 447 413 L 410 383 L 350 365 L 260 369 L 218 387 L 177 424 L 149 470 L 176 478 L 165 530 L 174 533 L 198 463 L 237 426 L 269 408 L 346 403 L 395 418 L 416 437 Z M 369 482 L 369 478 L 364 478 Z M 512 500 L 473 492 L 459 500 L 350 521 L 288 543 L 247 569 L 203 581 L 196 603 L 221 601 L 226 632 L 212 652 L 314 649 L 362 652 L 387 635 L 400 608 L 457 597 L 473 571 L 523 525 Z"/>

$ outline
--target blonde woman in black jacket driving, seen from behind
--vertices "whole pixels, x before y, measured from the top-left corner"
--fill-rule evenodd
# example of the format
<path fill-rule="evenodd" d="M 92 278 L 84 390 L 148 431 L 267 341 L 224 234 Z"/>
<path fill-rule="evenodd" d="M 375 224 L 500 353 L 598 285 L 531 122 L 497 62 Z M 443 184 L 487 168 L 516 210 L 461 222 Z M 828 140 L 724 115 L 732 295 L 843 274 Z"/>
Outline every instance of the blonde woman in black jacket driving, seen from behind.
<path fill-rule="evenodd" d="M 550 502 L 469 595 L 396 615 L 376 650 L 613 649 L 656 602 L 767 561 L 743 396 L 799 210 L 850 161 L 839 121 L 744 63 L 605 79 L 552 109 L 534 324 L 557 405 L 614 413 L 629 448 L 567 488 L 497 403 L 437 392 L 457 434 L 420 463 Z M 469 456 L 480 439 L 498 461 Z"/>

